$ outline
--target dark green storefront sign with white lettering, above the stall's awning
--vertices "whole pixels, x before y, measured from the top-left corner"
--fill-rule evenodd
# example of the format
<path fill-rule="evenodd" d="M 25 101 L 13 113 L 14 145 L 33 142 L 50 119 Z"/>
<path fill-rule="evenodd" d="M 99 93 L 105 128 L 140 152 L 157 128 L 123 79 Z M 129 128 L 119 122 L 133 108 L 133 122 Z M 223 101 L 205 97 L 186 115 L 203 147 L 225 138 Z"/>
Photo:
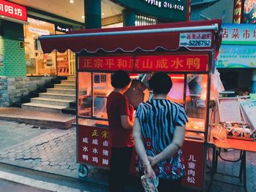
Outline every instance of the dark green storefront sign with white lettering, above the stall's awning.
<path fill-rule="evenodd" d="M 172 21 L 185 21 L 189 17 L 189 0 L 113 0 L 138 14 Z"/>

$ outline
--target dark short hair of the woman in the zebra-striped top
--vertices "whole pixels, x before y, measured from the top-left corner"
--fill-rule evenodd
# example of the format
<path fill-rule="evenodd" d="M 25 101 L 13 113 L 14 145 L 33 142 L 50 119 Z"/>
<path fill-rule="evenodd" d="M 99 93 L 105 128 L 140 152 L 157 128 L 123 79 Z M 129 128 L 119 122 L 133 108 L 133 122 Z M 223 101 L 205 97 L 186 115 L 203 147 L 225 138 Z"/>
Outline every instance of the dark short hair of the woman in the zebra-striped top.
<path fill-rule="evenodd" d="M 165 72 L 157 72 L 151 77 L 148 83 L 153 93 L 157 94 L 167 94 L 170 88 L 173 87 L 170 76 Z"/>

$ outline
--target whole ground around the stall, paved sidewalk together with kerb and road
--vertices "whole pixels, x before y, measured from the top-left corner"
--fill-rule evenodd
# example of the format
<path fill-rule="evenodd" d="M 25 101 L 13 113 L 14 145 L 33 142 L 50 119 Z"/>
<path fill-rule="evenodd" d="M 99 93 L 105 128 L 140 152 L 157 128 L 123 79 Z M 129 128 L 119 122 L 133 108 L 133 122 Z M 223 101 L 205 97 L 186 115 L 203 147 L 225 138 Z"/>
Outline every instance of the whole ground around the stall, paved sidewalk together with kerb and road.
<path fill-rule="evenodd" d="M 44 188 L 48 191 L 108 191 L 109 172 L 106 169 L 88 166 L 89 174 L 87 177 L 78 177 L 75 127 L 66 130 L 41 129 L 33 128 L 33 126 L 23 123 L 1 120 L 0 138 L 0 179 L 23 184 L 25 186 L 20 186 L 24 188 L 30 185 L 31 187 Z M 222 152 L 222 156 L 230 160 L 236 160 L 239 154 L 238 150 Z M 209 155 L 211 158 L 211 151 Z M 237 175 L 239 166 L 239 162 L 230 164 L 219 159 L 218 170 Z M 255 153 L 246 153 L 246 171 L 248 192 L 255 192 Z M 209 170 L 207 172 L 206 186 L 210 179 Z M 244 192 L 244 188 L 234 185 L 241 185 L 237 179 L 218 175 L 218 180 L 226 180 L 233 185 L 214 182 L 209 192 Z M 7 184 L 9 185 L 10 183 Z M 15 185 L 10 186 L 13 187 L 14 191 Z M 129 178 L 126 191 L 140 191 L 138 177 Z M 188 191 L 192 192 L 191 190 Z M 1 183 L 0 192 L 2 192 Z M 8 192 L 12 192 L 12 190 L 8 190 Z"/>

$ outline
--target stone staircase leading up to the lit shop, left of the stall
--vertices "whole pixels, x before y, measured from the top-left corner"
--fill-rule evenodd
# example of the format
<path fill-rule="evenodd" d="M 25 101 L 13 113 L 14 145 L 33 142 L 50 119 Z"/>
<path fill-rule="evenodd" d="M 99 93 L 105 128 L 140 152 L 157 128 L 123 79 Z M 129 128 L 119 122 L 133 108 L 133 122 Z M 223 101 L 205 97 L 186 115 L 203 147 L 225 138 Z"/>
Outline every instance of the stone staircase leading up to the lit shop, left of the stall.
<path fill-rule="evenodd" d="M 75 77 L 69 76 L 53 86 L 47 88 L 46 93 L 39 93 L 39 97 L 31 98 L 29 103 L 22 104 L 21 108 L 75 114 Z"/>

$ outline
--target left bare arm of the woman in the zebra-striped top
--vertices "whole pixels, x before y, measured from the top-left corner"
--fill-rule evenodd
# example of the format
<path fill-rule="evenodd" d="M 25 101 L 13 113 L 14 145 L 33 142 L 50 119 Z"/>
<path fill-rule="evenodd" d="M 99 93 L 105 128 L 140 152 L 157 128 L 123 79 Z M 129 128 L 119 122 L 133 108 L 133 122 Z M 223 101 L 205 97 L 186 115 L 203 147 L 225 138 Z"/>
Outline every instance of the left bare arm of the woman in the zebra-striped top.
<path fill-rule="evenodd" d="M 133 139 L 135 139 L 135 149 L 143 164 L 146 166 L 146 174 L 154 175 L 154 170 L 151 167 L 150 161 L 148 161 L 148 155 L 146 154 L 145 147 L 143 145 L 142 137 L 141 137 L 141 129 L 140 129 L 140 122 L 138 118 L 135 118 L 135 125 L 133 127 Z"/>

